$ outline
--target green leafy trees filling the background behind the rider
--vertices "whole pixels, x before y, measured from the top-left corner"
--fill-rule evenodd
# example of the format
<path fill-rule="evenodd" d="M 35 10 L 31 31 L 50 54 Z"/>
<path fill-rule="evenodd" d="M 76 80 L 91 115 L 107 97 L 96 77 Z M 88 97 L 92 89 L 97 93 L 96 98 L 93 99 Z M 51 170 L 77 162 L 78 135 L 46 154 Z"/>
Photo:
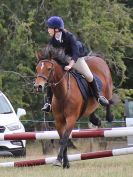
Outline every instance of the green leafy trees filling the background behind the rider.
<path fill-rule="evenodd" d="M 35 53 L 49 40 L 46 20 L 58 15 L 67 30 L 105 58 L 117 92 L 123 89 L 126 97 L 125 88 L 133 87 L 132 14 L 132 0 L 1 0 L 0 90 L 28 118 L 43 115 L 43 94 L 33 90 Z"/>

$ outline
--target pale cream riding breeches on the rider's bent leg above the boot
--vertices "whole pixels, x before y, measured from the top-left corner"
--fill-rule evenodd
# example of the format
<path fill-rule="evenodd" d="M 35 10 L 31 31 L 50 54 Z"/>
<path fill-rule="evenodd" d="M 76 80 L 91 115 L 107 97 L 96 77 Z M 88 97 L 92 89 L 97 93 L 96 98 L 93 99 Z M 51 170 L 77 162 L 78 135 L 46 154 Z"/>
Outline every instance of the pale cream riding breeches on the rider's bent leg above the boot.
<path fill-rule="evenodd" d="M 91 72 L 89 66 L 87 65 L 84 57 L 78 58 L 78 60 L 76 61 L 76 63 L 74 63 L 72 68 L 77 70 L 80 74 L 84 75 L 88 82 L 93 81 L 92 72 Z"/>

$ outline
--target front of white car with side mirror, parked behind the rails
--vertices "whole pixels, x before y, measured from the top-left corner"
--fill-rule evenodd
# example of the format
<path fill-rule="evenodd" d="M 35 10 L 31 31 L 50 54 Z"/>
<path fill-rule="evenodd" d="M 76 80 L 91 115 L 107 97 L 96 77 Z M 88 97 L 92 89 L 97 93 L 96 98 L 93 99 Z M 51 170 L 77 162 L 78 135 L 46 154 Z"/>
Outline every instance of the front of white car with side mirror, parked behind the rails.
<path fill-rule="evenodd" d="M 16 114 L 8 98 L 0 91 L 0 134 L 25 132 L 25 128 L 19 120 L 23 115 L 26 115 L 26 111 L 18 108 Z M 0 155 L 25 156 L 26 141 L 0 141 Z"/>

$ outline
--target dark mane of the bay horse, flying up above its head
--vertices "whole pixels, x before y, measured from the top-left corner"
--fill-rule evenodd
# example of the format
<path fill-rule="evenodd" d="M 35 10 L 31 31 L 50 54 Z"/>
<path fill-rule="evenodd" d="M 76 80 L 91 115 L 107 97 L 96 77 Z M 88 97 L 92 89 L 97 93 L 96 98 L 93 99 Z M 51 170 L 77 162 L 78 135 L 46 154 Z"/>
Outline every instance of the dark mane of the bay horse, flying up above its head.
<path fill-rule="evenodd" d="M 46 45 L 41 51 L 37 53 L 38 60 L 51 60 L 59 62 L 60 64 L 65 64 L 67 62 L 68 56 L 62 48 L 55 48 L 52 45 Z"/>

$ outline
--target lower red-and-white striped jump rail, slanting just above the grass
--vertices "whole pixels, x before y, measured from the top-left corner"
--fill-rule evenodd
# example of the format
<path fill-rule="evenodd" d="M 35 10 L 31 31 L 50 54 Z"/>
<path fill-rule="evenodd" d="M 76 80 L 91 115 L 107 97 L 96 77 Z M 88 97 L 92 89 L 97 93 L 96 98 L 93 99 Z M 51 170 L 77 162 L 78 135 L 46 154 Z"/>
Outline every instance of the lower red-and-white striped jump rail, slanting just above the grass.
<path fill-rule="evenodd" d="M 133 154 L 133 147 L 69 155 L 68 160 L 79 161 L 79 160 L 96 159 L 96 158 L 120 156 L 120 155 L 127 155 L 127 154 Z M 48 158 L 37 159 L 37 160 L 3 162 L 0 163 L 0 167 L 29 167 L 29 166 L 37 166 L 37 165 L 46 165 L 46 164 L 52 164 L 55 160 L 56 157 L 48 157 Z"/>

